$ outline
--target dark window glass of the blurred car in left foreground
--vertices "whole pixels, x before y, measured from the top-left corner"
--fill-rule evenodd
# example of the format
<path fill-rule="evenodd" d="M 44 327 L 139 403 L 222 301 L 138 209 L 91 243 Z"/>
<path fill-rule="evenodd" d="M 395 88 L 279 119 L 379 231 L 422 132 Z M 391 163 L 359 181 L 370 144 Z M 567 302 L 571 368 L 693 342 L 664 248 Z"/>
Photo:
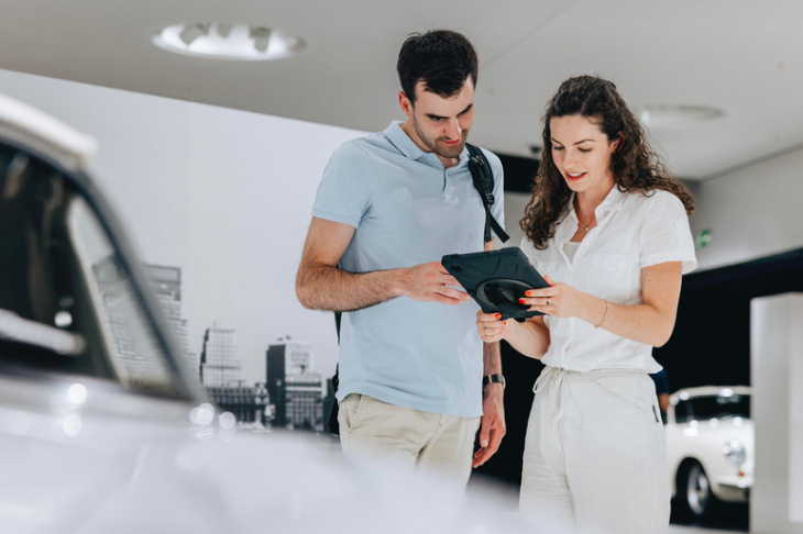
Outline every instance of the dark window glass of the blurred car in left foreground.
<path fill-rule="evenodd" d="M 182 397 L 128 269 L 73 180 L 0 142 L 0 372 Z"/>

